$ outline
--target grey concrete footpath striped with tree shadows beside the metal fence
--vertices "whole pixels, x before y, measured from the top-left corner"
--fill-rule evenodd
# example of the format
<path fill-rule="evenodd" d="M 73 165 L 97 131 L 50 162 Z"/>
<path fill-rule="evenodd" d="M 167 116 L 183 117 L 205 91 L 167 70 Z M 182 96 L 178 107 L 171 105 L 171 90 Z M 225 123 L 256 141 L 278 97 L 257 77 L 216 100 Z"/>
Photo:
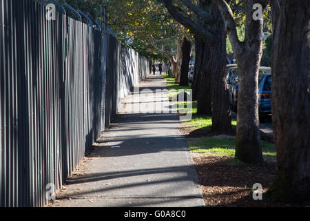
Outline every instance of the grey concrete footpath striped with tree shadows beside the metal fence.
<path fill-rule="evenodd" d="M 167 92 L 152 95 L 163 88 L 164 79 L 152 75 L 139 84 L 138 102 L 137 95 L 122 100 L 116 124 L 49 206 L 205 206 L 178 115 L 131 113 L 137 104 L 169 108 Z"/>

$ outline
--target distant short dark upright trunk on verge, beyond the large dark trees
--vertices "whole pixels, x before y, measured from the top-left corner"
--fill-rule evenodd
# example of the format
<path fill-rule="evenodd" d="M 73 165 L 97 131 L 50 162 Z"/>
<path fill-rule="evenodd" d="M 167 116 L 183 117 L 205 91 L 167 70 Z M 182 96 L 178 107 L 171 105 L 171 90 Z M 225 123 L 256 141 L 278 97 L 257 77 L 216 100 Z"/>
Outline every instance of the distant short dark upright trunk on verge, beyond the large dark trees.
<path fill-rule="evenodd" d="M 192 43 L 184 37 L 182 44 L 182 66 L 180 70 L 180 86 L 188 86 L 189 61 L 191 59 Z"/>

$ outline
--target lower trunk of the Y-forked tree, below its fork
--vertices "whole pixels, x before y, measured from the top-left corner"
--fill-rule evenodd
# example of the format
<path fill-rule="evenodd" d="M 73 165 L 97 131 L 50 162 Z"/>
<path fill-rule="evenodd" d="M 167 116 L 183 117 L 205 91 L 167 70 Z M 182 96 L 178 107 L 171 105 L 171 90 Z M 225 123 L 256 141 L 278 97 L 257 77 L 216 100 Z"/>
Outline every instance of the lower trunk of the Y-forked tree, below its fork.
<path fill-rule="evenodd" d="M 247 48 L 246 50 L 249 50 Z M 258 49 L 259 50 L 259 49 Z M 238 108 L 236 128 L 236 158 L 242 162 L 262 164 L 260 125 L 258 117 L 258 50 L 239 55 L 238 62 Z"/>

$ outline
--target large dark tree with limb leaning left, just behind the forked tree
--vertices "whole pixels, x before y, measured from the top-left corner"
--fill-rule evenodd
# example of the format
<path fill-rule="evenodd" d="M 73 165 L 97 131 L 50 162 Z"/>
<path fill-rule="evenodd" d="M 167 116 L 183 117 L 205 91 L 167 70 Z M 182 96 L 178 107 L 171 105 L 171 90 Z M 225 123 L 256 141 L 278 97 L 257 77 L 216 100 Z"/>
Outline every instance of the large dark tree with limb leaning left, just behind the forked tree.
<path fill-rule="evenodd" d="M 225 26 L 219 10 L 211 1 L 200 1 L 203 4 L 202 10 L 199 6 L 188 0 L 180 0 L 182 6 L 186 6 L 190 12 L 185 12 L 172 0 L 161 0 L 168 12 L 176 21 L 189 28 L 195 37 L 204 41 L 207 47 L 205 63 L 202 64 L 204 71 L 209 75 L 208 85 L 198 85 L 203 88 L 211 87 L 212 102 L 212 127 L 214 133 L 231 133 L 231 114 L 229 107 L 229 97 L 225 77 L 226 65 L 226 35 Z M 196 18 L 196 19 L 195 19 Z M 203 21 L 203 22 L 201 22 Z M 200 64 L 201 65 L 201 64 Z M 201 81 L 203 84 L 205 81 Z M 195 84 L 195 83 L 194 83 Z M 203 91 L 203 90 L 200 90 Z M 201 96 L 203 96 L 202 94 Z"/>

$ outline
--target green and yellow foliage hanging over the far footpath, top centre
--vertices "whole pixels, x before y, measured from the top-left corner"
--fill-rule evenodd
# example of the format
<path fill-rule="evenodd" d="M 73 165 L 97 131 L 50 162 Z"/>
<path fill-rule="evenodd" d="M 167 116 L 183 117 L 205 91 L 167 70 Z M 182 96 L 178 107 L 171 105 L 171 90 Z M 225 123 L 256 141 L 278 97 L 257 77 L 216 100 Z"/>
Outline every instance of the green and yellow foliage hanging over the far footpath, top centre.
<path fill-rule="evenodd" d="M 179 25 L 157 1 L 118 0 L 107 7 L 109 26 L 123 44 L 154 59 L 164 59 L 163 44 L 167 50 L 175 50 Z"/>

